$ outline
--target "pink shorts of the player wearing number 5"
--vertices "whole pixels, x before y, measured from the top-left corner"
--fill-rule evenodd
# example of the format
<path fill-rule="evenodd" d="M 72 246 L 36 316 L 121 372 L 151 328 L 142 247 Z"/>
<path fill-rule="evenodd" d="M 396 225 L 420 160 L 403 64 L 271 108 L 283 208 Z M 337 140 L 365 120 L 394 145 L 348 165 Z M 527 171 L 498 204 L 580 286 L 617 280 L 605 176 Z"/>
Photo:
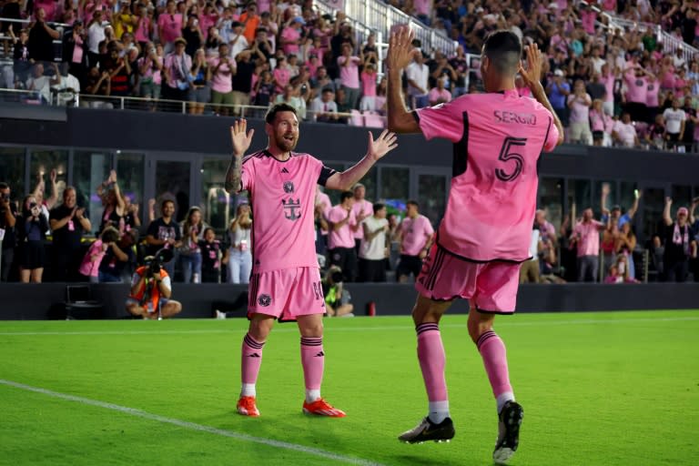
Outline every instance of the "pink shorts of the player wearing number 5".
<path fill-rule="evenodd" d="M 520 285 L 519 263 L 471 262 L 432 245 L 415 289 L 425 298 L 469 299 L 480 312 L 512 314 Z"/>

